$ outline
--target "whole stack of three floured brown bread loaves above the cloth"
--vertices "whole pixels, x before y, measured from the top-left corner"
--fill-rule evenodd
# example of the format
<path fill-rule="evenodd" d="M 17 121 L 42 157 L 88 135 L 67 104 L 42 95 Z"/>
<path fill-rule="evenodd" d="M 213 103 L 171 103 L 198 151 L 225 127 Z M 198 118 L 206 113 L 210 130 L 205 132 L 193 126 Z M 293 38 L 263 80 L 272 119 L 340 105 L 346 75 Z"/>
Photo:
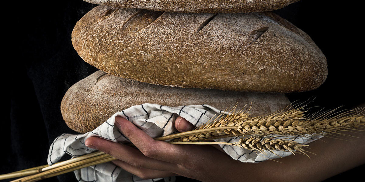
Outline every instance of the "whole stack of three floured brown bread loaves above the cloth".
<path fill-rule="evenodd" d="M 327 76 L 326 58 L 306 33 L 262 12 L 298 0 L 86 1 L 101 5 L 77 22 L 72 44 L 101 71 L 62 100 L 77 132 L 143 103 L 220 110 L 238 103 L 266 114 L 290 105 L 283 93 L 315 89 Z"/>

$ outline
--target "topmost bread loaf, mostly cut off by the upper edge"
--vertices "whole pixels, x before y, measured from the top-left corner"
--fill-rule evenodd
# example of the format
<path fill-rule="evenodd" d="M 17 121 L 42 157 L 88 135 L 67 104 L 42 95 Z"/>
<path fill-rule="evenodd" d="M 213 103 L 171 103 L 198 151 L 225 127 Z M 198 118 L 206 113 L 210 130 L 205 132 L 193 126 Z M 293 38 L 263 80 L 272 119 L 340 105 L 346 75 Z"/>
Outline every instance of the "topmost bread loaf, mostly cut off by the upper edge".
<path fill-rule="evenodd" d="M 185 13 L 247 13 L 284 8 L 299 0 L 84 0 L 122 8 Z"/>

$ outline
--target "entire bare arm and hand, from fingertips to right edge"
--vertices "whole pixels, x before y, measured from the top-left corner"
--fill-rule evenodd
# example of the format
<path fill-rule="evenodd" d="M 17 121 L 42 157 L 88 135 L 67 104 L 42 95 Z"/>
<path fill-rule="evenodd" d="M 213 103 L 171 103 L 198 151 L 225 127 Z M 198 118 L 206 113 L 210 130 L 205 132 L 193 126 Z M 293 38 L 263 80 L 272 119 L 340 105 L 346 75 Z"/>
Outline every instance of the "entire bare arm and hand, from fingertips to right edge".
<path fill-rule="evenodd" d="M 155 141 L 120 117 L 116 118 L 116 126 L 139 150 L 98 137 L 88 138 L 85 144 L 118 158 L 113 161 L 116 165 L 143 179 L 182 175 L 200 181 L 322 181 L 365 161 L 364 131 L 345 132 L 355 137 L 351 142 L 328 137 L 312 142 L 310 152 L 317 155 L 310 154 L 311 158 L 290 155 L 276 161 L 242 163 L 212 146 Z M 175 127 L 179 131 L 191 128 L 180 117 Z"/>

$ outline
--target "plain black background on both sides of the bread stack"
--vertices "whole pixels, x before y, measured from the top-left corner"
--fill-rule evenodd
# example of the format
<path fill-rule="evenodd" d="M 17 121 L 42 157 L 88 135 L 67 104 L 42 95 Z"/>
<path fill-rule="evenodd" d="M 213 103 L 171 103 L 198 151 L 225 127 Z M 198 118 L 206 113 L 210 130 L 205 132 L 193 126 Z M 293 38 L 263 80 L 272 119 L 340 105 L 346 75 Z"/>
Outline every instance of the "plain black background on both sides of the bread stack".
<path fill-rule="evenodd" d="M 50 143 L 62 133 L 75 133 L 62 120 L 61 99 L 70 86 L 97 70 L 82 61 L 71 44 L 76 21 L 96 5 L 81 0 L 51 2 L 3 5 L 7 33 L 2 39 L 6 51 L 1 174 L 46 164 Z M 360 58 L 364 20 L 354 10 L 360 5 L 333 2 L 302 0 L 275 11 L 308 33 L 328 62 L 322 86 L 287 96 L 291 101 L 315 98 L 311 106 L 320 108 L 352 108 L 365 102 L 364 58 Z M 360 171 L 364 165 L 327 181 L 360 178 Z M 57 180 L 77 181 L 73 173 L 44 181 Z"/>

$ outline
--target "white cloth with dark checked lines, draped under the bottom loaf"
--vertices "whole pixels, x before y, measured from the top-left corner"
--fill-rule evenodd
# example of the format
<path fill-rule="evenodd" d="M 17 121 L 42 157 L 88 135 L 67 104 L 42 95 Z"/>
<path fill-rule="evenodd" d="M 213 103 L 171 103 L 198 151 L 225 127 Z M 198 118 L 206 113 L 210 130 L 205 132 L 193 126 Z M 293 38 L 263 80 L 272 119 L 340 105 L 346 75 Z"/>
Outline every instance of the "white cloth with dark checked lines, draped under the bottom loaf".
<path fill-rule="evenodd" d="M 174 121 L 177 116 L 187 119 L 194 126 L 201 126 L 207 123 L 211 118 L 215 118 L 220 113 L 229 114 L 228 112 L 218 110 L 209 105 L 191 105 L 169 107 L 158 104 L 145 103 L 138 106 L 132 106 L 126 110 L 115 113 L 106 122 L 101 124 L 95 130 L 80 135 L 62 134 L 57 137 L 49 150 L 48 164 L 53 165 L 65 154 L 72 157 L 89 154 L 95 151 L 85 146 L 85 140 L 89 137 L 97 136 L 113 142 L 123 143 L 129 142 L 118 129 L 114 126 L 115 117 L 123 117 L 137 125 L 141 130 L 145 131 L 152 138 L 161 137 L 176 133 Z M 295 136 L 294 136 L 295 137 Z M 238 142 L 240 137 L 216 139 L 220 142 Z M 295 141 L 299 143 L 309 143 L 318 139 L 317 137 L 295 137 Z M 270 151 L 264 153 L 255 153 L 253 151 L 243 149 L 237 146 L 220 145 L 228 155 L 233 159 L 241 162 L 261 162 L 268 159 L 278 157 L 286 157 L 291 155 L 291 152 L 275 151 L 273 154 Z M 127 171 L 124 171 L 113 163 L 108 162 L 95 166 L 85 167 L 74 171 L 78 181 L 85 182 L 134 182 L 134 181 L 157 181 L 159 179 L 143 180 Z M 165 181 L 174 181 L 174 178 L 165 178 Z"/>

